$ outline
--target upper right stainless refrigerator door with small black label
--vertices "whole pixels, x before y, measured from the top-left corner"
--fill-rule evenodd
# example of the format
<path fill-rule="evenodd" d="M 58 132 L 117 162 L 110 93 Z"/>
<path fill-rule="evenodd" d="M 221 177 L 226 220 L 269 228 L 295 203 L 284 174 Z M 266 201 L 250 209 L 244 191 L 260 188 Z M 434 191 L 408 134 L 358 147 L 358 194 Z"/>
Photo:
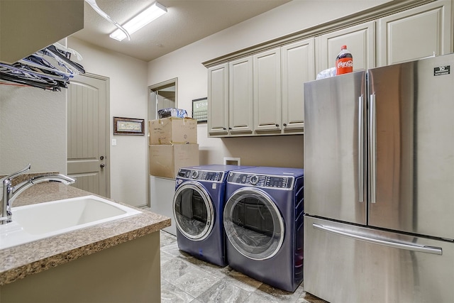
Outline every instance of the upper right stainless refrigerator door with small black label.
<path fill-rule="evenodd" d="M 454 239 L 454 54 L 367 76 L 369 225 Z"/>

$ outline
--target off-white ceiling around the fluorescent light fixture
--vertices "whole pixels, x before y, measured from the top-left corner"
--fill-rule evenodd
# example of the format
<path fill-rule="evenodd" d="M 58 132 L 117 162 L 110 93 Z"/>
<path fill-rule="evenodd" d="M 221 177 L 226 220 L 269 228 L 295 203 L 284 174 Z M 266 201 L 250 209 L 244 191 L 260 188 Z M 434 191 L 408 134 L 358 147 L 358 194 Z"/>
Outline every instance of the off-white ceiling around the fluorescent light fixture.
<path fill-rule="evenodd" d="M 167 13 L 131 35 L 109 38 L 116 26 L 84 4 L 84 29 L 74 37 L 140 60 L 150 61 L 222 31 L 291 0 L 157 0 Z M 96 0 L 99 8 L 123 24 L 154 0 Z"/>

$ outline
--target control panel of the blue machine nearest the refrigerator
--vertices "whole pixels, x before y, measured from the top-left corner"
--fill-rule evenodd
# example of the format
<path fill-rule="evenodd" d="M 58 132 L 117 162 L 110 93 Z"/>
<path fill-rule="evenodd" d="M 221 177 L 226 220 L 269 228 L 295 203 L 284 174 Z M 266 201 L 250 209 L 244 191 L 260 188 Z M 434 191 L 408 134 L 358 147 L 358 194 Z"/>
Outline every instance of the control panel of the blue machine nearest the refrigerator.
<path fill-rule="evenodd" d="M 292 189 L 294 177 L 255 175 L 241 172 L 230 172 L 228 175 L 229 183 L 252 185 L 257 187 L 275 187 L 281 189 Z"/>

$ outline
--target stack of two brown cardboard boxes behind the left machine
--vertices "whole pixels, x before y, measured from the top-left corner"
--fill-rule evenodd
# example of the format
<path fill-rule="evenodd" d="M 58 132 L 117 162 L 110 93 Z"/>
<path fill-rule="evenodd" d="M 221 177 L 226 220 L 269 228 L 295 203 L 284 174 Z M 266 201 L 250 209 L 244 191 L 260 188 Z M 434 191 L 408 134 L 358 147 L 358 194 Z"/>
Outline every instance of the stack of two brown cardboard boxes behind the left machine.
<path fill-rule="evenodd" d="M 150 175 L 175 179 L 179 167 L 199 165 L 197 121 L 169 117 L 148 121 Z"/>

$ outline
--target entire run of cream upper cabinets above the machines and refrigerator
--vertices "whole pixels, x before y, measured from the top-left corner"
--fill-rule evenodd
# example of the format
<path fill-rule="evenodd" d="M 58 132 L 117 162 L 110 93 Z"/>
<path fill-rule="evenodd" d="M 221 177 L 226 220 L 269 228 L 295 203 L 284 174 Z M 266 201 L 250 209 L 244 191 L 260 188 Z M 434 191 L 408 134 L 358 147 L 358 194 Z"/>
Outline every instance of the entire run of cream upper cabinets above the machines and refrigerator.
<path fill-rule="evenodd" d="M 419 6 L 399 2 L 389 4 L 395 13 L 365 12 L 204 63 L 209 67 L 209 136 L 303 133 L 304 82 L 335 67 L 342 45 L 353 55 L 353 70 L 453 51 L 454 0 Z"/>

